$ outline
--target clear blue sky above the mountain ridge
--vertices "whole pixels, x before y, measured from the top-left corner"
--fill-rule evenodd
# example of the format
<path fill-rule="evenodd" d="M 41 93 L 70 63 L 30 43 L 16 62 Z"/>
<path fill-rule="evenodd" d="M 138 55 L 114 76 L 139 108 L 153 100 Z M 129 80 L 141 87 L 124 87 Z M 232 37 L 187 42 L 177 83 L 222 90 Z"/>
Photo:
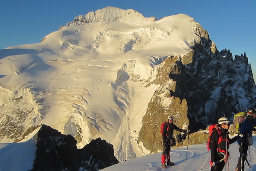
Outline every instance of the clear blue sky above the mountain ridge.
<path fill-rule="evenodd" d="M 208 31 L 219 51 L 246 52 L 256 78 L 255 0 L 2 0 L 0 3 L 0 49 L 30 43 L 73 21 L 74 17 L 114 6 L 134 9 L 158 19 L 187 14 Z"/>

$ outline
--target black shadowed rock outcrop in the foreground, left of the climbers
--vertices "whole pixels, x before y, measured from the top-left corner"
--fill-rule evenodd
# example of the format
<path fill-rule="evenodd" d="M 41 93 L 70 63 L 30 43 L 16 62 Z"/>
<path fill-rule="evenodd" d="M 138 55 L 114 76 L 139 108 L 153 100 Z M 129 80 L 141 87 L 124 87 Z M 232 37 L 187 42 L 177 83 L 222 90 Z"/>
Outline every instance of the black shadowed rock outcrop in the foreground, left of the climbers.
<path fill-rule="evenodd" d="M 43 125 L 38 132 L 36 157 L 30 171 L 98 171 L 119 163 L 113 154 L 113 146 L 105 140 L 98 138 L 77 149 L 73 136 Z"/>

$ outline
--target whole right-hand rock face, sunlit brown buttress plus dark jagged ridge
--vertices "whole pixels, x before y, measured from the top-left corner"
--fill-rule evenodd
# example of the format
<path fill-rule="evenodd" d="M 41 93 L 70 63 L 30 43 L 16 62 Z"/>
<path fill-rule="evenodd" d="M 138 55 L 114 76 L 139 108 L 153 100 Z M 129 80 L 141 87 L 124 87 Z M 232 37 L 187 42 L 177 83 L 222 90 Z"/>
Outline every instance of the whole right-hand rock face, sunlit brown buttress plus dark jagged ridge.
<path fill-rule="evenodd" d="M 212 47 L 207 37 L 201 37 L 182 60 L 166 58 L 158 74 L 155 84 L 161 86 L 148 104 L 139 134 L 139 142 L 151 152 L 163 148 L 160 125 L 168 115 L 174 116 L 179 128 L 189 125 L 195 132 L 222 116 L 232 120 L 233 114 L 256 103 L 256 85 L 246 55 L 233 59 L 229 50 L 218 52 Z"/>

